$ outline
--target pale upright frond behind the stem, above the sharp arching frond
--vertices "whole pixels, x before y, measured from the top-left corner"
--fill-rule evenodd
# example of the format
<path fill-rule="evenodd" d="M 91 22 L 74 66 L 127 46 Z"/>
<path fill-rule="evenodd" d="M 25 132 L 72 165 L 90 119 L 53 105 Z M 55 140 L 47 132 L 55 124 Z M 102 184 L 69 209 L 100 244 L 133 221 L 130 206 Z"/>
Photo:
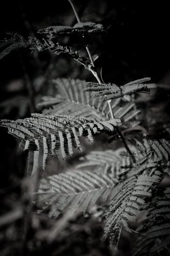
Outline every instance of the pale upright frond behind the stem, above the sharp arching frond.
<path fill-rule="evenodd" d="M 89 92 L 83 92 L 86 82 L 79 79 L 58 78 L 54 81 L 56 84 L 56 97 L 51 100 L 57 100 L 56 104 L 50 104 L 49 99 L 43 100 L 38 107 L 43 109 L 43 113 L 57 115 L 75 115 L 86 116 L 89 118 L 111 119 L 111 113 L 107 102 L 98 102 L 97 99 L 91 99 Z M 60 100 L 60 102 L 59 102 Z M 50 108 L 47 108 L 48 104 Z M 135 104 L 126 102 L 123 99 L 112 100 L 112 111 L 115 118 L 121 118 L 123 129 L 128 127 L 129 122 L 135 122 L 134 126 L 139 124 L 136 120 L 139 110 L 135 109 Z M 131 125 L 132 127 L 132 125 Z"/>

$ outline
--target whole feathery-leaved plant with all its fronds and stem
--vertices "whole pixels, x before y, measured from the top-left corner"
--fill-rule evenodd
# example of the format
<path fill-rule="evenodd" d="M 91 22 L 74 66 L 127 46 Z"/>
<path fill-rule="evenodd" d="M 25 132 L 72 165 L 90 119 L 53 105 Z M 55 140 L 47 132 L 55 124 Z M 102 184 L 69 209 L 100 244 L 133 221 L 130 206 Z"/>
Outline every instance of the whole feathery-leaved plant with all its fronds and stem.
<path fill-rule="evenodd" d="M 60 214 L 69 217 L 76 212 L 90 211 L 98 202 L 107 205 L 104 236 L 109 237 L 114 248 L 118 248 L 123 229 L 133 232 L 130 221 L 135 221 L 140 211 L 148 211 L 148 218 L 139 227 L 141 233 L 132 255 L 160 252 L 168 248 L 170 238 L 169 188 L 162 190 L 162 196 L 157 194 L 165 175 L 169 175 L 170 141 L 152 138 L 145 127 L 139 129 L 144 134 L 128 134 L 129 130 L 135 132 L 137 125 L 138 128 L 142 125 L 141 110 L 135 103 L 137 93 L 149 93 L 156 86 L 148 84 L 149 77 L 123 85 L 100 83 L 94 64 L 98 55 L 91 56 L 86 39 L 105 33 L 105 29 L 101 24 L 77 20 L 73 27 L 40 29 L 38 38 L 8 33 L 8 38 L 0 45 L 3 48 L 0 60 L 20 47 L 56 55 L 68 54 L 99 83 L 57 78 L 54 81 L 56 95 L 45 95 L 37 106 L 42 114 L 0 120 L 0 126 L 7 127 L 8 132 L 20 140 L 20 147 L 28 150 L 28 173 L 31 175 L 37 170 L 45 170 L 49 156 L 66 159 L 72 156 L 74 149 L 82 151 L 81 138 L 93 142 L 95 134 L 101 132 L 113 136 L 110 140 L 118 140 L 116 150 L 93 150 L 81 158 L 83 162 L 77 164 L 75 170 L 41 179 L 35 193 L 38 205 L 48 208 L 49 216 L 55 218 Z M 47 37 L 41 38 L 42 34 Z M 81 36 L 88 57 L 56 42 L 58 36 L 65 35 Z M 124 137 L 125 132 L 130 135 L 128 138 Z M 119 148 L 120 139 L 123 148 Z"/>

